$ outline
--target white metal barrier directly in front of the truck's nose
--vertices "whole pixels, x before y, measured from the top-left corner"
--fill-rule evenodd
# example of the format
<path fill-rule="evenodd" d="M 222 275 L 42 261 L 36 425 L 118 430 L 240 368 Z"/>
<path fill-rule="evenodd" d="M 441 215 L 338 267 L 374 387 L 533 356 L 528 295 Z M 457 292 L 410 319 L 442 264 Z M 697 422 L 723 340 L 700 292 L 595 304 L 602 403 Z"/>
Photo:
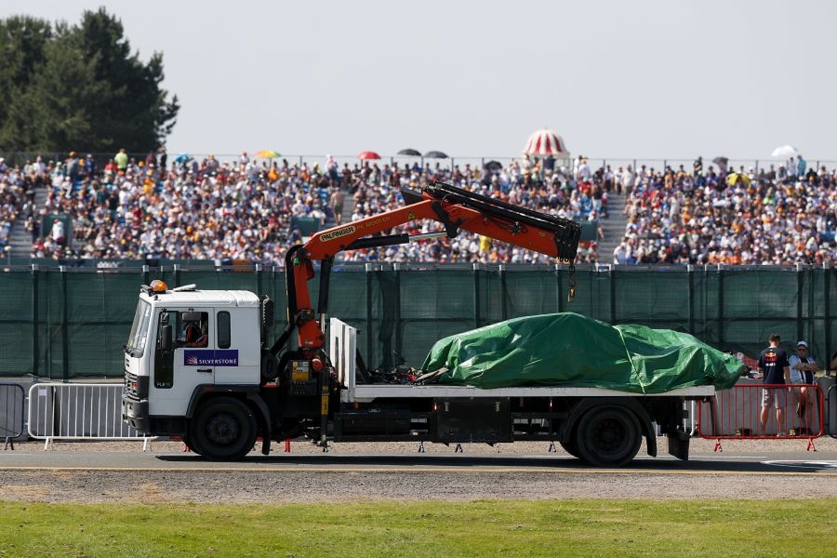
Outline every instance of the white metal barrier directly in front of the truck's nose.
<path fill-rule="evenodd" d="M 29 388 L 28 433 L 44 440 L 136 440 L 146 451 L 152 438 L 122 422 L 121 384 L 39 383 Z"/>

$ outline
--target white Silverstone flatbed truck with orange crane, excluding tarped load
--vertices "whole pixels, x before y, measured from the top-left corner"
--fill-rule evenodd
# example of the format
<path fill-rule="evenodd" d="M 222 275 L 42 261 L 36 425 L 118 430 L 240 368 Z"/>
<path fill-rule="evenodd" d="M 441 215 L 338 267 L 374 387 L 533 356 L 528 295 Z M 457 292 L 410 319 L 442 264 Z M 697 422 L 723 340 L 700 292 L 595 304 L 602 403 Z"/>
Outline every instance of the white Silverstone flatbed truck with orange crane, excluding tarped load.
<path fill-rule="evenodd" d="M 714 396 L 712 386 L 637 395 L 592 387 L 506 387 L 363 383 L 358 379 L 357 331 L 331 318 L 328 283 L 336 253 L 444 235 L 479 233 L 547 253 L 572 265 L 580 227 L 436 182 L 403 193 L 406 205 L 326 229 L 285 256 L 287 325 L 270 342 L 273 301 L 249 291 L 140 289 L 125 346 L 123 419 L 150 436 L 181 437 L 211 460 L 244 458 L 261 440 L 305 435 L 327 443 L 557 442 L 597 466 L 621 466 L 642 438 L 657 454 L 655 424 L 669 453 L 687 459 L 684 402 Z M 442 233 L 381 235 L 396 225 L 431 219 Z M 308 281 L 320 263 L 318 308 Z M 571 269 L 572 271 L 572 269 Z M 572 277 L 572 274 L 571 274 Z M 572 294 L 574 283 L 570 284 Z M 183 332 L 189 328 L 198 334 Z M 295 349 L 287 347 L 298 335 Z M 326 347 L 327 345 L 327 347 Z M 560 366 L 560 363 L 556 363 Z"/>

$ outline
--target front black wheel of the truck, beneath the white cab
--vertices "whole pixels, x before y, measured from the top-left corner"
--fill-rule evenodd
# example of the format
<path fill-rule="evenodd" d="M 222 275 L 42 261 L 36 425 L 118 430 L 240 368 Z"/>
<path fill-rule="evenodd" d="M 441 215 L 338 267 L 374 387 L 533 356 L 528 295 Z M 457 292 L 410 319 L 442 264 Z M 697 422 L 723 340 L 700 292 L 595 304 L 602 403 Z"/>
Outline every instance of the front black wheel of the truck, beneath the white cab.
<path fill-rule="evenodd" d="M 256 428 L 256 417 L 246 403 L 218 397 L 198 407 L 188 438 L 203 458 L 236 461 L 253 448 Z"/>

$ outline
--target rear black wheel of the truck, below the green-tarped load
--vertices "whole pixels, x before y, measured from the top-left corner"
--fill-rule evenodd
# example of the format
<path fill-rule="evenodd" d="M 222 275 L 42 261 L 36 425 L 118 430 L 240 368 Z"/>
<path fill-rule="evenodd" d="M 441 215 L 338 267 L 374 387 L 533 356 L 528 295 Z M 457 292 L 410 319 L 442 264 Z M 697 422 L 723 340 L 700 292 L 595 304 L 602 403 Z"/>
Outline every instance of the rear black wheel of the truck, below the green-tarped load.
<path fill-rule="evenodd" d="M 621 467 L 636 456 L 642 443 L 639 421 L 624 407 L 593 407 L 578 422 L 578 457 L 598 467 Z"/>

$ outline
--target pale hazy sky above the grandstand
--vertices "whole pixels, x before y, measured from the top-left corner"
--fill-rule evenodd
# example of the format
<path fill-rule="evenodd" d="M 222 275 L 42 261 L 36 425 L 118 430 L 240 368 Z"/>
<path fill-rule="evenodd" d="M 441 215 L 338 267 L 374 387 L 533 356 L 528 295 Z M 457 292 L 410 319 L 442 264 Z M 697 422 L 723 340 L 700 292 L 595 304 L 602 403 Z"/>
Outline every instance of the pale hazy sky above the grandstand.
<path fill-rule="evenodd" d="M 104 6 L 163 55 L 170 153 L 573 154 L 837 161 L 837 3 L 3 0 L 80 22 Z"/>

